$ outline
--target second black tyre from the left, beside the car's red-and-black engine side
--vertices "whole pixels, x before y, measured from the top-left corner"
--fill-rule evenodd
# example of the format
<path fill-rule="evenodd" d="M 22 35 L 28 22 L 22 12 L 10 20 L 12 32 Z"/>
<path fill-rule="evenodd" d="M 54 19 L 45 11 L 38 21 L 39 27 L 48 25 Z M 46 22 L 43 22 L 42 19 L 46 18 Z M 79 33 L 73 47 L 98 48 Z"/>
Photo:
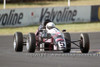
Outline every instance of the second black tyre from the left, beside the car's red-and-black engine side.
<path fill-rule="evenodd" d="M 29 33 L 28 37 L 27 37 L 26 48 L 27 48 L 28 52 L 34 53 L 35 52 L 35 47 L 36 47 L 35 34 L 34 33 Z"/>

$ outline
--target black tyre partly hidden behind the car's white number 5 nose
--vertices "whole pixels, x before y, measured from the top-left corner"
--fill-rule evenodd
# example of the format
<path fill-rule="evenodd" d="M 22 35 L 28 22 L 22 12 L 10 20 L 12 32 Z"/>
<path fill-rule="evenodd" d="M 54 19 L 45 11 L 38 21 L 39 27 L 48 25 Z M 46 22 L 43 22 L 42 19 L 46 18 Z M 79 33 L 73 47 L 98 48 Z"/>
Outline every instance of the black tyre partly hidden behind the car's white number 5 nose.
<path fill-rule="evenodd" d="M 69 53 L 71 51 L 71 37 L 70 34 L 68 32 L 64 32 L 64 37 L 66 40 L 66 49 L 63 50 L 64 53 Z"/>

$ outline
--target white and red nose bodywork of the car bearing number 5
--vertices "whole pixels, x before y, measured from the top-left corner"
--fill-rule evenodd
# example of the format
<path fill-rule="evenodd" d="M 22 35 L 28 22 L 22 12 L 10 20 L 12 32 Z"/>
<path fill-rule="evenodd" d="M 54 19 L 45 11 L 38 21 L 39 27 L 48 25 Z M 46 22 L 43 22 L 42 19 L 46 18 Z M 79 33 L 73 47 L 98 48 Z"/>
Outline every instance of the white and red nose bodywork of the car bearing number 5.
<path fill-rule="evenodd" d="M 47 33 L 54 38 L 54 50 L 63 50 L 66 48 L 64 34 L 57 28 L 47 29 Z"/>

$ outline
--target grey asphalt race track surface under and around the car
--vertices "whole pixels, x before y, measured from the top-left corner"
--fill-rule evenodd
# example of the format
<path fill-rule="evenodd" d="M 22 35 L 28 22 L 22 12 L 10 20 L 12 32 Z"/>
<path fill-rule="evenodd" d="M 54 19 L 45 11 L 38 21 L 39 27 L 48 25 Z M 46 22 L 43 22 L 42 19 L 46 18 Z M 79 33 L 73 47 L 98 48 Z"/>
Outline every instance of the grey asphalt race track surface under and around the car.
<path fill-rule="evenodd" d="M 72 40 L 79 39 L 80 33 L 71 33 Z M 13 36 L 0 36 L 0 67 L 100 67 L 100 32 L 89 33 L 90 52 L 82 54 L 80 50 L 71 53 L 14 52 Z M 73 46 L 74 47 L 74 46 Z"/>

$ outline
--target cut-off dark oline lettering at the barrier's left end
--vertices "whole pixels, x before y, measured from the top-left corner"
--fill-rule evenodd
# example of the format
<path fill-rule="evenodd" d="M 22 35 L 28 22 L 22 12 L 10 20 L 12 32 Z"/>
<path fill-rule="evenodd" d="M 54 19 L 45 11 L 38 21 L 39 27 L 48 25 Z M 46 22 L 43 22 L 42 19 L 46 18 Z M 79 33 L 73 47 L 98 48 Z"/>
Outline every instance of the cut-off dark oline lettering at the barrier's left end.
<path fill-rule="evenodd" d="M 10 10 L 9 13 L 0 14 L 1 25 L 16 25 L 21 24 L 23 19 L 23 13 L 15 13 L 15 10 Z"/>

